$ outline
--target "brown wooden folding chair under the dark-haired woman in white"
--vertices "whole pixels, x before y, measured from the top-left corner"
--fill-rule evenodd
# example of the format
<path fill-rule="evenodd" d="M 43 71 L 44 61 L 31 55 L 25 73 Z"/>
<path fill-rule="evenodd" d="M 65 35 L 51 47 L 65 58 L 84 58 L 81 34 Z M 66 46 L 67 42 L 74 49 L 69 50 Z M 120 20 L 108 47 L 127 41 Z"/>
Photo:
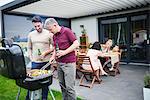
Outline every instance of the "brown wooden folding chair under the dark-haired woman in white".
<path fill-rule="evenodd" d="M 82 68 L 82 65 L 87 65 L 87 67 L 91 67 L 92 70 L 85 70 Z M 96 71 L 97 70 L 94 70 L 93 69 L 93 66 L 91 64 L 91 61 L 90 61 L 90 58 L 85 56 L 85 55 L 80 55 L 78 57 L 78 70 L 82 73 L 82 76 L 80 78 L 80 81 L 79 81 L 79 85 L 80 86 L 85 86 L 85 87 L 89 87 L 89 88 L 92 88 L 93 87 L 93 84 L 94 82 L 98 82 L 99 84 L 101 83 L 101 79 L 99 79 L 99 77 L 96 75 Z M 99 70 L 99 69 L 98 69 Z M 89 77 L 87 77 L 89 76 Z M 89 79 L 91 78 L 91 79 Z M 91 83 L 83 83 L 84 82 L 84 79 L 86 79 L 86 81 L 91 81 Z"/>

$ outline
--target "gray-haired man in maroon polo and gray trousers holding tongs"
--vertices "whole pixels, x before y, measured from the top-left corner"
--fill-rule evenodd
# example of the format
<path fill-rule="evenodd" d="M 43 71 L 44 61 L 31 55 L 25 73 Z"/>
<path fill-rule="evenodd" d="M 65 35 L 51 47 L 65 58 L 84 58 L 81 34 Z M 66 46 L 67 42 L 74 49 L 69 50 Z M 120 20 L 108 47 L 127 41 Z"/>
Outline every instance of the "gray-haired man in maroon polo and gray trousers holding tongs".
<path fill-rule="evenodd" d="M 55 50 L 50 62 L 56 58 L 58 62 L 58 79 L 63 94 L 63 100 L 76 100 L 75 75 L 76 56 L 75 49 L 79 46 L 74 33 L 67 27 L 60 26 L 54 18 L 45 21 L 45 28 L 54 34 Z M 56 53 L 56 46 L 59 51 Z"/>

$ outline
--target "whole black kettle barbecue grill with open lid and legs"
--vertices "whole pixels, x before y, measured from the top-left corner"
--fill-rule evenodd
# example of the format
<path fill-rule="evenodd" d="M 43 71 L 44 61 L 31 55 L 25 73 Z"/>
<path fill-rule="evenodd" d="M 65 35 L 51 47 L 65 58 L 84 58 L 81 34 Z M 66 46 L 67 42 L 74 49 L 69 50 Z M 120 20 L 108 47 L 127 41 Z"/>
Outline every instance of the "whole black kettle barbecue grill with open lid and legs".
<path fill-rule="evenodd" d="M 0 74 L 4 77 L 16 80 L 16 84 L 20 88 L 25 88 L 30 91 L 41 89 L 52 84 L 52 73 L 44 73 L 37 76 L 27 74 L 24 55 L 22 49 L 17 44 L 2 43 L 4 47 L 0 47 Z M 46 66 L 43 66 L 44 69 Z M 41 69 L 41 70 L 44 70 Z M 32 70 L 31 70 L 32 71 Z M 53 100 L 55 99 L 51 89 L 49 88 Z M 20 91 L 18 91 L 17 100 L 19 99 Z M 31 98 L 33 99 L 33 98 Z"/>

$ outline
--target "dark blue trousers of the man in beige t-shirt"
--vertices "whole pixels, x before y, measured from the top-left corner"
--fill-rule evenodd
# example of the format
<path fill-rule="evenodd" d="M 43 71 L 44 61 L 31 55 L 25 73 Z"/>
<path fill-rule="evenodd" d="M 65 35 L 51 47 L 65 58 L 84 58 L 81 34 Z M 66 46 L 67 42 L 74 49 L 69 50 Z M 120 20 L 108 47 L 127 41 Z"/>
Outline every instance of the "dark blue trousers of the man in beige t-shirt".
<path fill-rule="evenodd" d="M 42 63 L 32 62 L 32 69 L 41 69 L 47 63 L 48 62 L 42 62 Z M 50 66 L 46 69 L 47 70 L 50 69 Z M 42 100 L 47 100 L 47 96 L 48 96 L 48 87 L 44 87 L 44 88 L 42 88 Z M 30 100 L 29 99 L 29 90 L 27 92 L 26 100 Z"/>

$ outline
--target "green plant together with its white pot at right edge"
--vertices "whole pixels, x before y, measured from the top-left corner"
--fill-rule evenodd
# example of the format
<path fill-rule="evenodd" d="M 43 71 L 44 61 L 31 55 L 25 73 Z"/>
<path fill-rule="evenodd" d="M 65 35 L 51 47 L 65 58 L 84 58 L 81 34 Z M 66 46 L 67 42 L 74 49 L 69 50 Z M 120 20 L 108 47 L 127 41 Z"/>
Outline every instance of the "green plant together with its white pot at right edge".
<path fill-rule="evenodd" d="M 150 73 L 144 76 L 143 96 L 144 100 L 150 100 Z"/>

